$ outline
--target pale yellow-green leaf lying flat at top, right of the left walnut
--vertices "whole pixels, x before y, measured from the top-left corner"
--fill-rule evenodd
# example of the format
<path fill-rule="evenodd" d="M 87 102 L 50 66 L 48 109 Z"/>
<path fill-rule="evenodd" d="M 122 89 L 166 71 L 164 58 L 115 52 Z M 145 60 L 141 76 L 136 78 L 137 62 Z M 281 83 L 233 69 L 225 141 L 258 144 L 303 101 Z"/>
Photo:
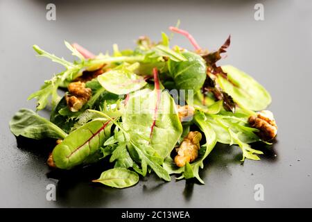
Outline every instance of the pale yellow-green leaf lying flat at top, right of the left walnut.
<path fill-rule="evenodd" d="M 143 76 L 138 76 L 128 69 L 107 71 L 98 76 L 98 82 L 108 91 L 122 95 L 141 89 L 146 85 Z"/>

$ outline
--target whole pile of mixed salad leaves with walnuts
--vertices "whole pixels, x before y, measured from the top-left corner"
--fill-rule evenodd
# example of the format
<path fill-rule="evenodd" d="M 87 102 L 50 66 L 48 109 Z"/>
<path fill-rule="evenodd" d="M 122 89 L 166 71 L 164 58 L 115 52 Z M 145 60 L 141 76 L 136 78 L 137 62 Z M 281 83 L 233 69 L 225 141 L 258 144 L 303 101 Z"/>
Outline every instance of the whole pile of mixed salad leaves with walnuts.
<path fill-rule="evenodd" d="M 193 51 L 170 47 L 162 33 L 158 43 L 139 37 L 134 50 L 95 56 L 78 44 L 65 42 L 74 62 L 33 49 L 40 57 L 64 66 L 28 99 L 37 110 L 51 105 L 50 120 L 28 109 L 10 121 L 15 136 L 55 138 L 50 167 L 73 169 L 109 158 L 113 169 L 97 180 L 111 187 L 130 187 L 152 171 L 163 180 L 197 178 L 217 142 L 236 144 L 245 158 L 259 160 L 252 142 L 273 139 L 277 126 L 264 110 L 270 94 L 256 80 L 231 65 L 218 66 L 230 37 L 217 51 L 201 49 L 177 26 Z M 65 89 L 64 96 L 58 89 Z M 66 90 L 67 89 L 67 90 Z M 260 111 L 260 112 L 257 112 Z"/>

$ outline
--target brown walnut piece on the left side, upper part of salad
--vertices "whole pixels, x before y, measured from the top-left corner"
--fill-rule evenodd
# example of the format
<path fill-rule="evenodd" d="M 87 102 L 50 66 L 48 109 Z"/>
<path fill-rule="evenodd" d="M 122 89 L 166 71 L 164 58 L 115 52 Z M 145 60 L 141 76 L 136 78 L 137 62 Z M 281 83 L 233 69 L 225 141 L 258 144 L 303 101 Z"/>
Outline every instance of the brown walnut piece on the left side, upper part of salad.
<path fill-rule="evenodd" d="M 71 112 L 78 112 L 92 96 L 92 89 L 86 88 L 85 83 L 80 81 L 69 83 L 68 91 L 65 99 Z"/>

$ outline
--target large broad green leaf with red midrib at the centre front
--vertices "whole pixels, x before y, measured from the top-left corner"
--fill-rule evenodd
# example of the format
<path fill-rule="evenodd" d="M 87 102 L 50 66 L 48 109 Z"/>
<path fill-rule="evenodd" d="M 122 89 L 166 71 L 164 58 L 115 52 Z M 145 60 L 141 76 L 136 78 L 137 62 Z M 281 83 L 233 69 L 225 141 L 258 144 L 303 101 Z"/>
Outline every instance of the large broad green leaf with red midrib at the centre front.
<path fill-rule="evenodd" d="M 161 92 L 155 114 L 156 101 L 157 90 L 141 89 L 131 94 L 122 116 L 123 128 L 137 144 L 150 144 L 164 158 L 180 138 L 182 125 L 175 102 L 168 92 Z"/>

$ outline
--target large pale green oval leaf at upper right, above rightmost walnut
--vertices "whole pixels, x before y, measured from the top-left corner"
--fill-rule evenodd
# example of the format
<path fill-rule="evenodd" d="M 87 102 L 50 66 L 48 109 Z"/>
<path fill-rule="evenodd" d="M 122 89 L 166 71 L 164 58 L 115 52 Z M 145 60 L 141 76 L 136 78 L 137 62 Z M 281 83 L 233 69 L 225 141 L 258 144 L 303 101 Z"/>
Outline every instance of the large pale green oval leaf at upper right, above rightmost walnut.
<path fill-rule="evenodd" d="M 222 67 L 227 78 L 217 75 L 216 82 L 239 106 L 249 110 L 263 110 L 271 103 L 271 96 L 254 78 L 230 65 Z"/>

